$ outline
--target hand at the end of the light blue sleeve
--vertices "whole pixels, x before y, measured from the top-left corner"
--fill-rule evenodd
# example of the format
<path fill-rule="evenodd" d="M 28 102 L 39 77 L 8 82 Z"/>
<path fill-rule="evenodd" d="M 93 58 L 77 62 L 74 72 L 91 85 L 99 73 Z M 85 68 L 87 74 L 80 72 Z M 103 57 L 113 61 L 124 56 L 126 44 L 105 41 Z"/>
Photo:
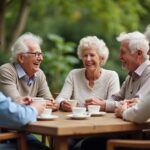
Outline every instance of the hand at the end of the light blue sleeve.
<path fill-rule="evenodd" d="M 38 111 L 38 115 L 40 115 L 46 108 L 46 102 L 33 101 L 30 106 L 34 107 Z"/>

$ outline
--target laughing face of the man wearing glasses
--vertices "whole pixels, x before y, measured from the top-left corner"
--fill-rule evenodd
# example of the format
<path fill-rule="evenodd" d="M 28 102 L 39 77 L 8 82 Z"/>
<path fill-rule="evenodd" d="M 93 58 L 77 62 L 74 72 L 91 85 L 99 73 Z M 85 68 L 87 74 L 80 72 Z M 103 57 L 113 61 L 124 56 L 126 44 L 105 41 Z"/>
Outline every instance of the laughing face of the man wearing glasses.
<path fill-rule="evenodd" d="M 19 54 L 17 58 L 24 71 L 31 77 L 39 70 L 43 56 L 41 54 L 41 48 L 37 43 L 26 41 L 26 45 L 29 51 Z M 37 54 L 35 55 L 35 53 Z"/>

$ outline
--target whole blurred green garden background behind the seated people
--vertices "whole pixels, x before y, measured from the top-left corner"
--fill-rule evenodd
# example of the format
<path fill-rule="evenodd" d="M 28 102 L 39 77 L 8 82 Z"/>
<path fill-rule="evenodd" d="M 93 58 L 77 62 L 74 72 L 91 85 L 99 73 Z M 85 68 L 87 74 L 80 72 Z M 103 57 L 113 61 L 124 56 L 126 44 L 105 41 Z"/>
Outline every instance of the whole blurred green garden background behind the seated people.
<path fill-rule="evenodd" d="M 59 92 L 72 68 L 82 67 L 76 49 L 87 35 L 102 38 L 110 57 L 105 68 L 127 72 L 118 60 L 120 32 L 145 31 L 149 0 L 0 0 L 0 65 L 9 61 L 10 46 L 24 32 L 43 38 L 41 68 L 52 92 Z"/>

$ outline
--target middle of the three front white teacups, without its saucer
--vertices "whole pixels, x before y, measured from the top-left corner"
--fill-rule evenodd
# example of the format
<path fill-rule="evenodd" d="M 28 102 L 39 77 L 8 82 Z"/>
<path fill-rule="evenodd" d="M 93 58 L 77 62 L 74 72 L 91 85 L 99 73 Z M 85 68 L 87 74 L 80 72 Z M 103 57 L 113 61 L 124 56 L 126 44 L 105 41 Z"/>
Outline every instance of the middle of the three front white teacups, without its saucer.
<path fill-rule="evenodd" d="M 74 116 L 84 116 L 86 115 L 86 108 L 85 107 L 73 107 L 72 113 Z"/>

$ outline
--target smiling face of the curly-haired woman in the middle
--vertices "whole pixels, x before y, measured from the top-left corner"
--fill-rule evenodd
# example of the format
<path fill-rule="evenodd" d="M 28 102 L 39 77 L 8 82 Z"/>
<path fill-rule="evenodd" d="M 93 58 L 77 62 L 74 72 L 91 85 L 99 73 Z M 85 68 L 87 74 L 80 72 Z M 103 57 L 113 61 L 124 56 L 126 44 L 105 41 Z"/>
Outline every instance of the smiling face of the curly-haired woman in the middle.
<path fill-rule="evenodd" d="M 96 50 L 88 48 L 83 50 L 82 62 L 86 70 L 97 70 L 100 68 L 102 57 L 100 57 Z"/>

